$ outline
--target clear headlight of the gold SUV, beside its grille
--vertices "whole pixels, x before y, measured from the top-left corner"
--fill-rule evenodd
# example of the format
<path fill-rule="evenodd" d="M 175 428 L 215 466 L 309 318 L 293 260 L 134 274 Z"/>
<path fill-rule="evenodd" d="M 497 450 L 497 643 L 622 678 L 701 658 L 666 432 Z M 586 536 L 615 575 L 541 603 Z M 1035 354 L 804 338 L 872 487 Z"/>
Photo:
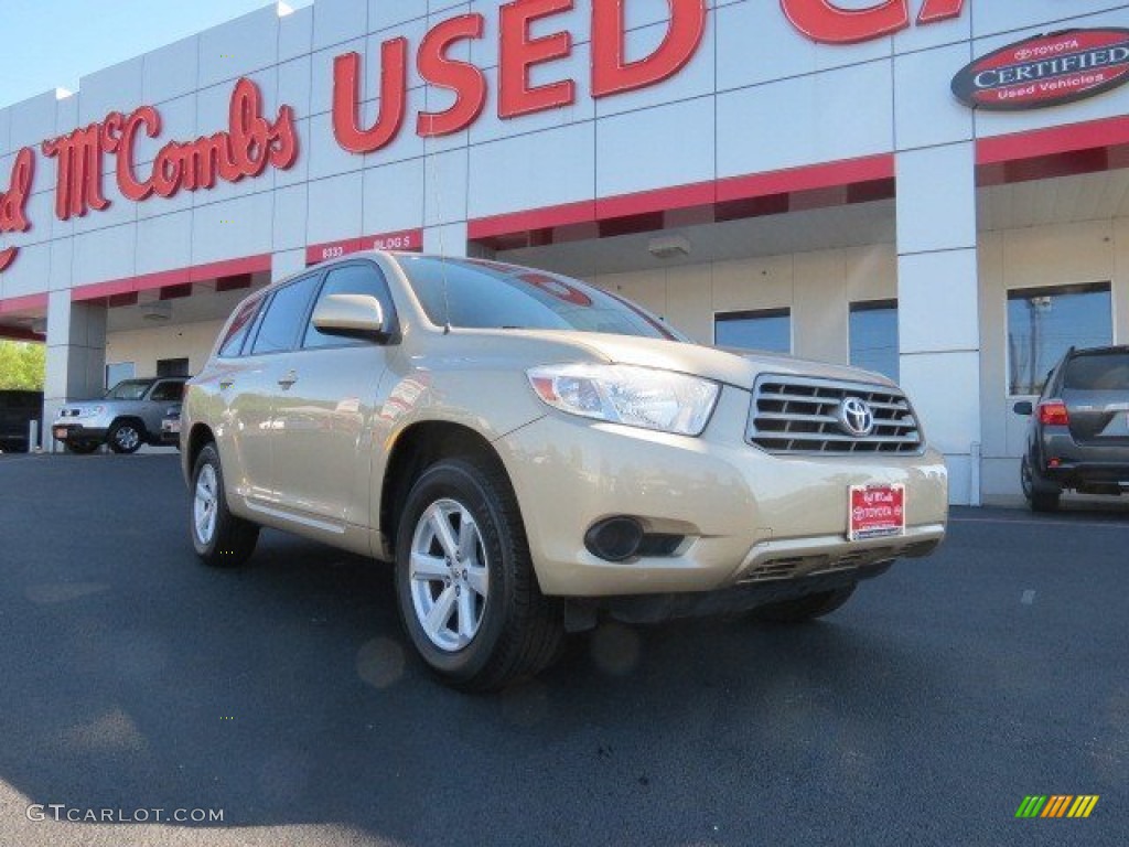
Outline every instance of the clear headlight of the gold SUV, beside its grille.
<path fill-rule="evenodd" d="M 545 365 L 526 374 L 554 409 L 676 435 L 701 435 L 720 391 L 709 379 L 633 365 Z"/>

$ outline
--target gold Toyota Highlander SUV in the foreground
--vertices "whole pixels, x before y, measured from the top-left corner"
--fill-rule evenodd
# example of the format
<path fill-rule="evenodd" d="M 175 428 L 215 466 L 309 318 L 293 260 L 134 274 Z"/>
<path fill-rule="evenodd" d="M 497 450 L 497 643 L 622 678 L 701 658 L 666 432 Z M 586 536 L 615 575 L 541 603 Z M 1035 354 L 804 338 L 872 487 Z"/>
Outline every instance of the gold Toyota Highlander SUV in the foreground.
<path fill-rule="evenodd" d="M 701 347 L 472 259 L 362 253 L 251 295 L 181 446 L 205 562 L 243 562 L 260 526 L 395 562 L 412 644 L 475 690 L 602 615 L 826 614 L 947 515 L 884 377 Z"/>

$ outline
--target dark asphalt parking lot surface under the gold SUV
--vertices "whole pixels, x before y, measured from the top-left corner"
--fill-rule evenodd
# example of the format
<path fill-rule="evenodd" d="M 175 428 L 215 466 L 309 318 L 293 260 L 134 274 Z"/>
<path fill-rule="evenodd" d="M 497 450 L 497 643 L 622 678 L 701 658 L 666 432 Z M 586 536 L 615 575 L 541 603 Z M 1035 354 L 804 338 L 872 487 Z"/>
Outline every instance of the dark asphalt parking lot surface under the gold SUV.
<path fill-rule="evenodd" d="M 956 509 L 823 622 L 605 626 L 470 697 L 380 568 L 209 570 L 186 507 L 174 456 L 0 459 L 0 842 L 1126 842 L 1124 508 Z"/>

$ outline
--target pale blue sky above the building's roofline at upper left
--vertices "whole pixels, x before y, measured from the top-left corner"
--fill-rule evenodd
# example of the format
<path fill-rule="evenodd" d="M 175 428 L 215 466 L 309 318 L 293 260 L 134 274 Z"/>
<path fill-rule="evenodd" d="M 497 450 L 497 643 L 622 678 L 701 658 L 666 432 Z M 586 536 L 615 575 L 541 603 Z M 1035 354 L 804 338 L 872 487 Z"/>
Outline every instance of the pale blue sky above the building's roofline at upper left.
<path fill-rule="evenodd" d="M 312 0 L 289 0 L 291 8 Z M 0 108 L 272 0 L 0 0 Z"/>

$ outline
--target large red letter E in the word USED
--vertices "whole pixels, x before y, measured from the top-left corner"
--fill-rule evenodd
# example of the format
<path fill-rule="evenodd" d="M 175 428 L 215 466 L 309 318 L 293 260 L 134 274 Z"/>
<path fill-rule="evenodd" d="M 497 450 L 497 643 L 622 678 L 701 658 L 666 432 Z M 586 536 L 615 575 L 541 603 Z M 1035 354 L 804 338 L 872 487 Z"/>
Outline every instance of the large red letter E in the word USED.
<path fill-rule="evenodd" d="M 567 106 L 576 99 L 576 82 L 560 79 L 530 85 L 530 69 L 542 62 L 564 59 L 572 52 L 572 35 L 558 32 L 530 37 L 534 20 L 569 11 L 572 0 L 517 0 L 501 7 L 501 37 L 498 44 L 498 116 L 516 117 L 546 108 Z"/>

